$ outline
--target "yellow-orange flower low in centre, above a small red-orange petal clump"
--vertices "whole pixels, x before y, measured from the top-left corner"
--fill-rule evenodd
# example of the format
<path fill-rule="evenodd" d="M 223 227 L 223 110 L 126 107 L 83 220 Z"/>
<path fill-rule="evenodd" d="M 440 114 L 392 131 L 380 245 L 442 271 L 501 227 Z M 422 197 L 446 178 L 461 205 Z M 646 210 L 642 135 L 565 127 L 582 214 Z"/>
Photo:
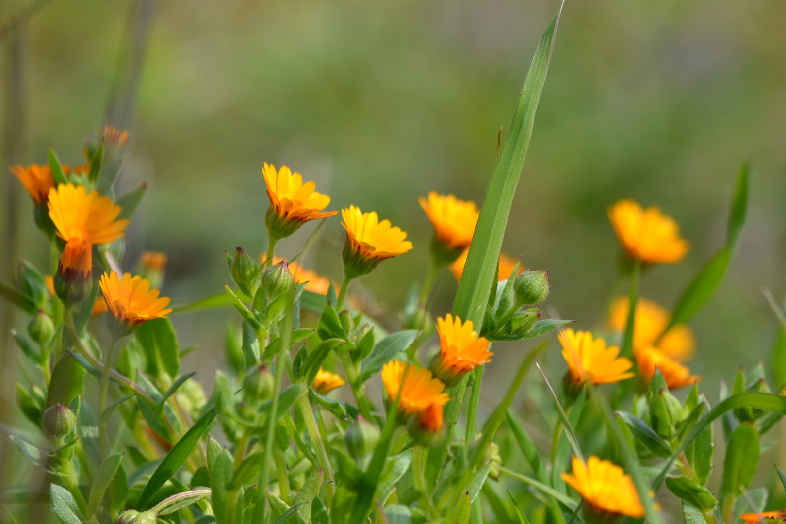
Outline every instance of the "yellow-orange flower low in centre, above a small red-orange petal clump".
<path fill-rule="evenodd" d="M 407 365 L 402 361 L 389 361 L 382 367 L 382 382 L 387 398 L 394 402 L 399 397 L 399 411 L 412 414 L 424 412 L 430 405 L 443 406 L 450 400 L 445 384 L 432 377 L 428 369 Z"/>

